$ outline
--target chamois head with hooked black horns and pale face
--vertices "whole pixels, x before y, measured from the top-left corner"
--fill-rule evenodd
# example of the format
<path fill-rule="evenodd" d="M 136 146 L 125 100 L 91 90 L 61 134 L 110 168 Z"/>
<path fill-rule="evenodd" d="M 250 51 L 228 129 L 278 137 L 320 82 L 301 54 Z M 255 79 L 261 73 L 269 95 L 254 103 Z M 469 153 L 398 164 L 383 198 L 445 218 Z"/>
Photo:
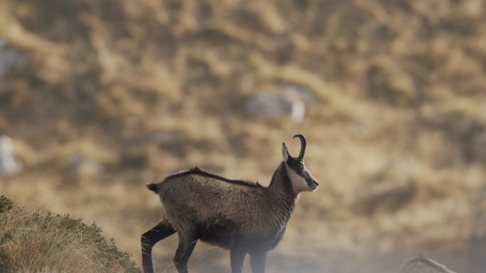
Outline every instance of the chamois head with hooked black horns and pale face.
<path fill-rule="evenodd" d="M 293 138 L 301 140 L 301 152 L 298 154 L 298 157 L 292 157 L 288 153 L 285 143 L 282 143 L 282 157 L 288 178 L 290 178 L 292 183 L 292 189 L 296 194 L 299 194 L 301 191 L 315 191 L 319 184 L 303 162 L 303 156 L 306 152 L 306 138 L 303 135 L 294 135 Z"/>

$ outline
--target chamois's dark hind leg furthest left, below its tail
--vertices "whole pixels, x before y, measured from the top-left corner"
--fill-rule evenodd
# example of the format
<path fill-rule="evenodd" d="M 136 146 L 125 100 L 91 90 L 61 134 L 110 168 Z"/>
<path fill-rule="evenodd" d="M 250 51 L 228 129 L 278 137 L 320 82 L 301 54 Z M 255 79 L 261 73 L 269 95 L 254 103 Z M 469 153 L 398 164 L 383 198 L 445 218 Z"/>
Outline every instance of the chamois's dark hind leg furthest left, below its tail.
<path fill-rule="evenodd" d="M 175 233 L 175 229 L 170 223 L 161 221 L 156 226 L 141 235 L 142 247 L 142 266 L 144 273 L 153 273 L 152 247 L 158 241 L 167 238 Z"/>

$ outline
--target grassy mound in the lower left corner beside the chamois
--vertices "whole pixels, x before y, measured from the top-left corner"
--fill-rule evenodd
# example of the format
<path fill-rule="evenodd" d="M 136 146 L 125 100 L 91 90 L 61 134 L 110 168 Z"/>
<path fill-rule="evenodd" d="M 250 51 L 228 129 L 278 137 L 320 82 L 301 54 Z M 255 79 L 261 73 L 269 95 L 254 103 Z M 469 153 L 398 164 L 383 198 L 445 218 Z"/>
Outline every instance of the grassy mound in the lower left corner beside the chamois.
<path fill-rule="evenodd" d="M 95 223 L 0 197 L 0 272 L 140 272 Z"/>

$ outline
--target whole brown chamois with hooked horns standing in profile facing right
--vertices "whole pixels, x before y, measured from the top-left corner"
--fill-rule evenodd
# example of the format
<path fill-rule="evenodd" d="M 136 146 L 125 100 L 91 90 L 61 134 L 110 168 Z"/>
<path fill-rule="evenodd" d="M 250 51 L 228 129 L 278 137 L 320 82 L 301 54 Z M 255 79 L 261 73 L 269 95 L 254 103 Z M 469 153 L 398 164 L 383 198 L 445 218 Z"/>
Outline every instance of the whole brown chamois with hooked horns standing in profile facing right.
<path fill-rule="evenodd" d="M 229 250 L 232 273 L 242 272 L 247 254 L 252 272 L 264 273 L 266 253 L 283 237 L 298 195 L 318 188 L 303 163 L 306 138 L 293 138 L 301 140 L 301 152 L 292 157 L 282 143 L 283 161 L 267 187 L 226 179 L 198 167 L 146 185 L 159 196 L 162 219 L 141 235 L 144 272 L 153 273 L 153 245 L 177 232 L 179 245 L 173 262 L 179 273 L 188 273 L 189 257 L 198 240 Z"/>

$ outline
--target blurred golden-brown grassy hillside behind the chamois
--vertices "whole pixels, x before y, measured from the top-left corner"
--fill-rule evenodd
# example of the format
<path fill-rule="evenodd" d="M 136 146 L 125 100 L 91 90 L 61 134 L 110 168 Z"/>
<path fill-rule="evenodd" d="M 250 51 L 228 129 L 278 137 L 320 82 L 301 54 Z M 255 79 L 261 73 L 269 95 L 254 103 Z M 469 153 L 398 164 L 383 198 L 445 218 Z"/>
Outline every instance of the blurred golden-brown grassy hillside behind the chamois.
<path fill-rule="evenodd" d="M 138 262 L 146 183 L 198 165 L 268 185 L 296 133 L 320 187 L 268 272 L 485 269 L 484 1 L 0 1 L 1 194 L 94 221 Z M 228 257 L 200 243 L 191 268 Z"/>

